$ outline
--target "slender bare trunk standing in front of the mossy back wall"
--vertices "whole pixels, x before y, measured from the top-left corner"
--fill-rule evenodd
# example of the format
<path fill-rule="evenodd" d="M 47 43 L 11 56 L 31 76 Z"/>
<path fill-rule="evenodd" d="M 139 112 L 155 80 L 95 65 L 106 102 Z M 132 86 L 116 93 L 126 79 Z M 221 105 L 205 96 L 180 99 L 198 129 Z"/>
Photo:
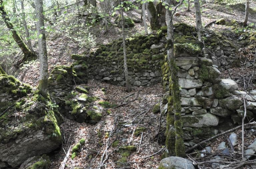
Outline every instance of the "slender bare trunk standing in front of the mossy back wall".
<path fill-rule="evenodd" d="M 127 68 L 127 59 L 126 59 L 126 47 L 125 47 L 125 34 L 124 34 L 124 14 L 123 9 L 121 9 L 121 20 L 122 20 L 122 35 L 123 35 L 123 50 L 124 50 L 124 73 L 125 73 L 125 82 L 126 88 L 128 92 L 131 92 L 131 85 L 128 76 L 128 68 Z"/>

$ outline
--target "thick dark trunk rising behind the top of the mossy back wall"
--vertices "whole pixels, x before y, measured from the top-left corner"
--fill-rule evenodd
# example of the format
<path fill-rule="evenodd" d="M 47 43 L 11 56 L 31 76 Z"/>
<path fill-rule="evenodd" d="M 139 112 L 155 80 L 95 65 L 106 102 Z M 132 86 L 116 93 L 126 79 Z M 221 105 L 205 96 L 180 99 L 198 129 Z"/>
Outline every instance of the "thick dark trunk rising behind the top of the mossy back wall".
<path fill-rule="evenodd" d="M 162 26 L 166 26 L 165 22 L 165 7 L 162 5 L 162 2 L 157 3 L 156 5 L 156 28 L 160 29 Z"/>

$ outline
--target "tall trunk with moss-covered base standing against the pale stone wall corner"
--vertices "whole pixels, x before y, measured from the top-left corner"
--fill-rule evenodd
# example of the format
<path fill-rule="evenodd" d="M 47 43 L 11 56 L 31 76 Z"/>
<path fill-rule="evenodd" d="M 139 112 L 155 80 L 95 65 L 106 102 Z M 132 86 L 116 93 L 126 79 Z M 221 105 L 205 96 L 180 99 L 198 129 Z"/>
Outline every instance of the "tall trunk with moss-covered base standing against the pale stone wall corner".
<path fill-rule="evenodd" d="M 174 4 L 171 0 L 169 4 Z M 168 114 L 167 114 L 167 129 L 166 129 L 166 146 L 169 155 L 185 156 L 185 145 L 183 141 L 183 130 L 181 120 L 181 104 L 180 104 L 180 90 L 178 83 L 178 67 L 175 63 L 174 56 L 174 37 L 173 37 L 173 23 L 172 11 L 166 10 L 167 17 L 167 58 L 170 67 L 170 96 L 168 99 Z M 173 116 L 174 115 L 174 116 Z M 175 145 L 174 145 L 175 143 Z M 175 150 L 174 150 L 175 147 Z"/>

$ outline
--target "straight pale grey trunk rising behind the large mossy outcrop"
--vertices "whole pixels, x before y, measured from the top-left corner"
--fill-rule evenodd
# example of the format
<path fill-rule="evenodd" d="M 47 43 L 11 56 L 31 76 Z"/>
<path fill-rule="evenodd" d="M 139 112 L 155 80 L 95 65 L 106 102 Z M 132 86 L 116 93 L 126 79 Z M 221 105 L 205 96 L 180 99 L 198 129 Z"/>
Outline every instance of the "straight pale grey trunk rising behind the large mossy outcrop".
<path fill-rule="evenodd" d="M 36 4 L 36 29 L 39 48 L 39 62 L 40 62 L 40 79 L 38 90 L 39 93 L 47 97 L 48 89 L 48 61 L 46 50 L 46 38 L 44 29 L 44 15 L 43 15 L 43 0 L 35 0 Z"/>

